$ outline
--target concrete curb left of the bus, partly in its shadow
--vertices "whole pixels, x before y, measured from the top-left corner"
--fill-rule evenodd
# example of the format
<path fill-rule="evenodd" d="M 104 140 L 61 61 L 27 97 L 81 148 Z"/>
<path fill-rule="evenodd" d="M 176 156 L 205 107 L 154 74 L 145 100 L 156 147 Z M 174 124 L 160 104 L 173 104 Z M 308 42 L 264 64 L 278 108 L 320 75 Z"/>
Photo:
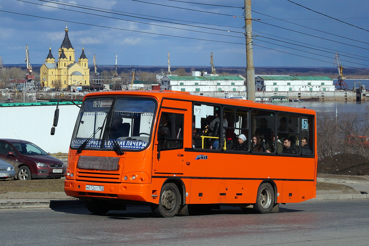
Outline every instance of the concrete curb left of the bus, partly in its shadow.
<path fill-rule="evenodd" d="M 1 208 L 60 208 L 82 207 L 82 200 L 38 200 L 38 199 L 9 199 L 0 200 Z"/>

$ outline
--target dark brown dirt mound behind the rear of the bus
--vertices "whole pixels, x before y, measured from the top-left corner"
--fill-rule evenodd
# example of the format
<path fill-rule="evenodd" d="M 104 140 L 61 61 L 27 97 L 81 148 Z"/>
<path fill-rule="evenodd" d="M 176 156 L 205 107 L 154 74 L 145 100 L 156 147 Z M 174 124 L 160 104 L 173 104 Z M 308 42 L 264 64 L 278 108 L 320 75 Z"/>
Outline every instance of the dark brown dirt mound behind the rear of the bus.
<path fill-rule="evenodd" d="M 318 160 L 318 173 L 350 176 L 369 175 L 369 160 L 361 155 L 337 154 Z"/>

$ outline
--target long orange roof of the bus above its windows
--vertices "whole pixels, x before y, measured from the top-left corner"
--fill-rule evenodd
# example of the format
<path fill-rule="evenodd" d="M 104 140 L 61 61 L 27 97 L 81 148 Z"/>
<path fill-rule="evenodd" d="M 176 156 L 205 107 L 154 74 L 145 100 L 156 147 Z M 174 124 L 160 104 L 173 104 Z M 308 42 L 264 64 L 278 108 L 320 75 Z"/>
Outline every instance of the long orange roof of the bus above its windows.
<path fill-rule="evenodd" d="M 315 111 L 306 108 L 296 108 L 296 107 L 288 107 L 288 106 L 280 106 L 266 103 L 254 103 L 249 100 L 236 99 L 236 98 L 217 98 L 217 97 L 206 97 L 206 96 L 196 96 L 191 95 L 189 92 L 184 91 L 158 91 L 158 90 L 121 90 L 121 91 L 100 91 L 86 94 L 83 98 L 85 100 L 88 97 L 95 96 L 119 96 L 119 95 L 132 95 L 132 96 L 151 96 L 158 98 L 159 101 L 162 98 L 173 98 L 173 99 L 181 99 L 181 100 L 189 100 L 189 101 L 197 101 L 204 103 L 215 103 L 215 104 L 227 104 L 233 106 L 241 106 L 241 107 L 251 107 L 251 108 L 259 108 L 265 110 L 275 110 L 275 111 L 286 111 L 286 112 L 296 112 L 301 114 L 312 114 L 315 115 Z"/>

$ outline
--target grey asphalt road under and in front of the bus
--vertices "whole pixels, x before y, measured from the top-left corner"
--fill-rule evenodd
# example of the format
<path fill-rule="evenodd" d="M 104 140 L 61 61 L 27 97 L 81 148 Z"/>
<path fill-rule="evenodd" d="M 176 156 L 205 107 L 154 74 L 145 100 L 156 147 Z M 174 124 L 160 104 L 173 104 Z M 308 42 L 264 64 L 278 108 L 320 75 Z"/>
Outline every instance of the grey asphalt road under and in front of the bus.
<path fill-rule="evenodd" d="M 308 201 L 278 214 L 221 207 L 154 218 L 147 206 L 106 216 L 85 208 L 1 209 L 0 245 L 368 245 L 369 201 Z"/>

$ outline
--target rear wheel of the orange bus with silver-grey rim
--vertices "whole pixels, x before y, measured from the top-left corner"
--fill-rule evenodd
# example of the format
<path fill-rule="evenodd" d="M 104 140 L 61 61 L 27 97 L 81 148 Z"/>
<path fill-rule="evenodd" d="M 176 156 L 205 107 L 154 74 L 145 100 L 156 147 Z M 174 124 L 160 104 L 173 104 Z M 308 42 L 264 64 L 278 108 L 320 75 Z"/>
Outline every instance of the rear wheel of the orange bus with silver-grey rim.
<path fill-rule="evenodd" d="M 261 214 L 268 214 L 274 207 L 274 189 L 270 183 L 262 183 L 258 188 L 254 209 Z"/>

